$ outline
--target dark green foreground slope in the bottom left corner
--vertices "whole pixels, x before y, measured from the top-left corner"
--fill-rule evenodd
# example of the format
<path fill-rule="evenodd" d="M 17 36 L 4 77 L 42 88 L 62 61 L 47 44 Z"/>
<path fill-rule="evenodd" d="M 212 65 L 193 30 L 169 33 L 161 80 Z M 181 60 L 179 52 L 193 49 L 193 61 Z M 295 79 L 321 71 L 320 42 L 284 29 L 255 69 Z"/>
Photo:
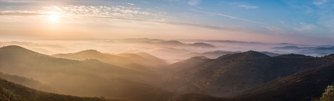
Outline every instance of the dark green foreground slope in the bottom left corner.
<path fill-rule="evenodd" d="M 105 100 L 98 97 L 76 97 L 31 89 L 0 78 L 1 101 L 125 101 Z"/>

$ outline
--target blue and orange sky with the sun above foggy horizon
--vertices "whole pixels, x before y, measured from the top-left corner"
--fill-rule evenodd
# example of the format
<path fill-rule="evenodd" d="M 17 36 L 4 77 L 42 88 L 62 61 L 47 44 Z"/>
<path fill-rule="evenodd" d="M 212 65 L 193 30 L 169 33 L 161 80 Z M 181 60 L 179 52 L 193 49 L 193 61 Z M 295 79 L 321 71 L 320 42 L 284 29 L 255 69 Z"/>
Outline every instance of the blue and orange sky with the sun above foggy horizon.
<path fill-rule="evenodd" d="M 0 39 L 334 44 L 334 0 L 0 0 Z"/>

